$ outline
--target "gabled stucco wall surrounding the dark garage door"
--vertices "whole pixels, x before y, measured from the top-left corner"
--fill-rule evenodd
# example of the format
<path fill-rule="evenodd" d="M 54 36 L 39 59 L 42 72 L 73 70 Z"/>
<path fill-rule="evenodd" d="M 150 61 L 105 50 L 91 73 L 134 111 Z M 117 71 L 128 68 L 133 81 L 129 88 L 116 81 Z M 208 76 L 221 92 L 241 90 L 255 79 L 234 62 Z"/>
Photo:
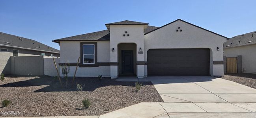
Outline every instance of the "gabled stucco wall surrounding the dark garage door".
<path fill-rule="evenodd" d="M 176 32 L 176 30 L 182 31 Z M 222 45 L 225 41 L 226 38 L 224 37 L 178 20 L 144 35 L 144 61 L 147 61 L 149 49 L 209 48 L 211 76 L 223 76 L 223 65 L 213 65 L 213 61 L 223 61 Z M 219 51 L 217 51 L 217 47 L 219 47 Z"/>

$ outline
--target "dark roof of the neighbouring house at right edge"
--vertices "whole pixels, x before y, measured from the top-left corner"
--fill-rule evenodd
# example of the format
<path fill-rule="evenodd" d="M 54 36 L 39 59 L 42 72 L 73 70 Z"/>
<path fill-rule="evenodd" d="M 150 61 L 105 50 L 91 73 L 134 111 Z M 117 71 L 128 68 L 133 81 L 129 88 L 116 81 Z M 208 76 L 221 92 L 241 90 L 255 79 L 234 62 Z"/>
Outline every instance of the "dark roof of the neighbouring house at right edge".
<path fill-rule="evenodd" d="M 246 33 L 243 35 L 237 35 L 228 39 L 223 44 L 223 48 L 233 48 L 237 46 L 246 46 L 250 44 L 256 44 L 256 31 Z"/>

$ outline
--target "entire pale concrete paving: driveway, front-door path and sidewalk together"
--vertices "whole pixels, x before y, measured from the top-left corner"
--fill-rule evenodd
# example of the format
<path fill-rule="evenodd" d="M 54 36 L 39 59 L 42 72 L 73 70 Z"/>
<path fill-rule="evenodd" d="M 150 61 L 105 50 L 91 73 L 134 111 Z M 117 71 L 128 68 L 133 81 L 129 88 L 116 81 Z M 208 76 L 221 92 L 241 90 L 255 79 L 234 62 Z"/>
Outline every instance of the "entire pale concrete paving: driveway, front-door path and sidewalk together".
<path fill-rule="evenodd" d="M 211 76 L 121 78 L 151 81 L 164 103 L 139 103 L 100 117 L 137 118 L 255 118 L 256 89 Z"/>

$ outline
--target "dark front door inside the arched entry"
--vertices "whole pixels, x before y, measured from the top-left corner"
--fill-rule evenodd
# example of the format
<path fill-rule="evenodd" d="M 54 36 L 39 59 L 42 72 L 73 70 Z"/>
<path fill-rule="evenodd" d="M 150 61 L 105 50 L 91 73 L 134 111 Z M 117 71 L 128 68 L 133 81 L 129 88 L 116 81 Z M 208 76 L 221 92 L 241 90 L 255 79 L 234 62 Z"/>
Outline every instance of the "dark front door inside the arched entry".
<path fill-rule="evenodd" d="M 133 50 L 122 50 L 122 73 L 132 74 L 133 73 Z"/>

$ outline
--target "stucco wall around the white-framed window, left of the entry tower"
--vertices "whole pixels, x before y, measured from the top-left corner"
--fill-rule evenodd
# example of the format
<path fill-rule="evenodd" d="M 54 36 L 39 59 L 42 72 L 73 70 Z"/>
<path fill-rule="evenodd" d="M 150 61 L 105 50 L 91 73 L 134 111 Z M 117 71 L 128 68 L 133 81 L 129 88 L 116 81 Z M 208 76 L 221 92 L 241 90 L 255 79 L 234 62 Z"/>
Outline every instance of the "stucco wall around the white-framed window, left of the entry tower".
<path fill-rule="evenodd" d="M 80 57 L 80 42 L 97 42 L 97 62 L 110 62 L 109 41 L 60 41 L 60 63 L 77 63 Z M 80 62 L 80 60 L 79 60 Z M 69 77 L 73 77 L 76 66 L 70 66 Z M 78 67 L 77 77 L 93 77 L 103 75 L 110 77 L 110 66 Z M 63 76 L 60 72 L 60 76 Z"/>

